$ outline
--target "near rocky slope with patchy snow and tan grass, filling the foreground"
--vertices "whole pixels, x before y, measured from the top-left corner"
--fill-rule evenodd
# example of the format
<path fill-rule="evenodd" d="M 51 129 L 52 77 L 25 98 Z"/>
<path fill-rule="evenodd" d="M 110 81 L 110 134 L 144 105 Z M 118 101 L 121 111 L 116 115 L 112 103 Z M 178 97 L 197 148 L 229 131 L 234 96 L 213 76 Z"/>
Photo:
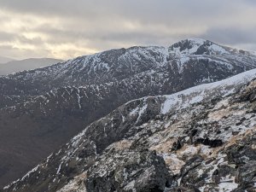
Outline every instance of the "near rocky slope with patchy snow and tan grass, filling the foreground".
<path fill-rule="evenodd" d="M 255 78 L 127 102 L 3 191 L 255 191 Z"/>

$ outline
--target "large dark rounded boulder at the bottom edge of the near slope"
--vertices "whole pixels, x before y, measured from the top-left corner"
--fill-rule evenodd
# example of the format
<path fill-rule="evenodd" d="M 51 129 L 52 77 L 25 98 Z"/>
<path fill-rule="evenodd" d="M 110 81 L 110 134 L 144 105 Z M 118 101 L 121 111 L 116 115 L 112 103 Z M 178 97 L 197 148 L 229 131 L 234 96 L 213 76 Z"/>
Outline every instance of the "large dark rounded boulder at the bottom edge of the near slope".
<path fill-rule="evenodd" d="M 88 192 L 161 192 L 172 183 L 165 161 L 152 152 L 109 155 L 108 161 L 100 160 L 90 169 L 85 182 Z"/>

